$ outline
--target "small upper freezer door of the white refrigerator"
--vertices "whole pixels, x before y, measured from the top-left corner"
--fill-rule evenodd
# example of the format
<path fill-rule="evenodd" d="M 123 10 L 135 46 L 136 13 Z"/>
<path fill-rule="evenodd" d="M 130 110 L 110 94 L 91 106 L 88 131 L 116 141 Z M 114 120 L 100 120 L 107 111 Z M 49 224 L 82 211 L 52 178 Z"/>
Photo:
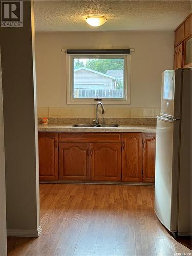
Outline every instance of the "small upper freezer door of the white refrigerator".
<path fill-rule="evenodd" d="M 174 116 L 175 70 L 166 70 L 162 74 L 161 115 Z"/>

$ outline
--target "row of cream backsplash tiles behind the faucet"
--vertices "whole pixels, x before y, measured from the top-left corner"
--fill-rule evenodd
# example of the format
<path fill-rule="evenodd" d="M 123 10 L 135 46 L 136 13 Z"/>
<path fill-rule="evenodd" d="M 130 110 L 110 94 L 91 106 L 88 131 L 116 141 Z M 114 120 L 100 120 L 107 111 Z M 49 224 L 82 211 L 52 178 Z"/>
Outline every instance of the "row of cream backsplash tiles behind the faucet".
<path fill-rule="evenodd" d="M 160 108 L 130 108 L 121 106 L 104 106 L 105 114 L 107 118 L 155 118 L 160 114 Z M 99 109 L 100 112 L 100 109 Z M 91 107 L 66 107 L 66 108 L 53 108 L 53 107 L 38 107 L 38 117 L 67 117 L 67 118 L 78 118 L 78 117 L 90 117 L 95 118 L 96 108 Z M 101 112 L 99 116 L 101 116 Z"/>

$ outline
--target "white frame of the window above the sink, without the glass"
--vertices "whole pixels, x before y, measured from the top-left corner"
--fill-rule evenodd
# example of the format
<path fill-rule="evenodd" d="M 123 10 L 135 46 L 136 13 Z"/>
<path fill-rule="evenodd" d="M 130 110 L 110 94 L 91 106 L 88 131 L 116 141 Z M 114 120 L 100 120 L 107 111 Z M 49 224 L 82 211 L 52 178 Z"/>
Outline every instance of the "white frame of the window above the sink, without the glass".
<path fill-rule="evenodd" d="M 90 98 L 73 98 L 73 59 L 74 58 L 124 58 L 124 98 L 102 99 L 105 105 L 130 105 L 131 54 L 66 54 L 66 95 L 67 104 L 93 105 L 97 101 Z"/>

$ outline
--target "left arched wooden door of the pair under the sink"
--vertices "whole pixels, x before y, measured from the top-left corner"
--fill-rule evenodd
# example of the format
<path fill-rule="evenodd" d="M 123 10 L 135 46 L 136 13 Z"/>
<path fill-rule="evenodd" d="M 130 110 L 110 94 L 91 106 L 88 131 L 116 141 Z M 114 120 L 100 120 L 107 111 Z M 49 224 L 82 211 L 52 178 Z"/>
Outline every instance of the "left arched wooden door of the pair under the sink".
<path fill-rule="evenodd" d="M 90 144 L 59 143 L 59 180 L 90 179 Z"/>

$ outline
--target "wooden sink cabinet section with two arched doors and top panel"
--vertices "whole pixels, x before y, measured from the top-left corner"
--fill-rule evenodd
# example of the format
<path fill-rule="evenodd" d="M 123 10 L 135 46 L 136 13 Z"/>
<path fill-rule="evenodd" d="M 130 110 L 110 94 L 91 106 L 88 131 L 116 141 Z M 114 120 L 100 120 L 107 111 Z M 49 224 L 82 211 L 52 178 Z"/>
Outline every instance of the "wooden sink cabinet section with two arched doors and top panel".
<path fill-rule="evenodd" d="M 121 180 L 121 140 L 121 133 L 60 132 L 59 179 Z"/>

